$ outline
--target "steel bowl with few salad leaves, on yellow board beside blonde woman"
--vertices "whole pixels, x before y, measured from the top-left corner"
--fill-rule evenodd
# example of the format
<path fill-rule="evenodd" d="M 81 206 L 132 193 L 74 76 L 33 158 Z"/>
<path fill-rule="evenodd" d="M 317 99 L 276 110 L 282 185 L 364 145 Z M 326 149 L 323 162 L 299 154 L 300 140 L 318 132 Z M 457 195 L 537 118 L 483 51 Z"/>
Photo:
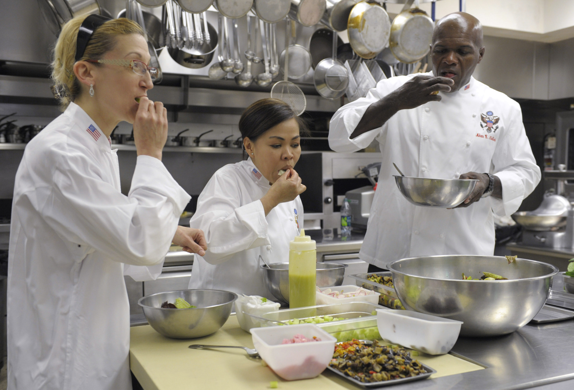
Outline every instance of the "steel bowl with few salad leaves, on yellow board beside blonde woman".
<path fill-rule="evenodd" d="M 188 309 L 161 308 L 165 301 L 183 298 L 197 306 Z M 138 300 L 149 325 L 171 338 L 196 338 L 215 333 L 227 321 L 237 299 L 234 292 L 223 290 L 180 290 L 158 292 Z"/>

